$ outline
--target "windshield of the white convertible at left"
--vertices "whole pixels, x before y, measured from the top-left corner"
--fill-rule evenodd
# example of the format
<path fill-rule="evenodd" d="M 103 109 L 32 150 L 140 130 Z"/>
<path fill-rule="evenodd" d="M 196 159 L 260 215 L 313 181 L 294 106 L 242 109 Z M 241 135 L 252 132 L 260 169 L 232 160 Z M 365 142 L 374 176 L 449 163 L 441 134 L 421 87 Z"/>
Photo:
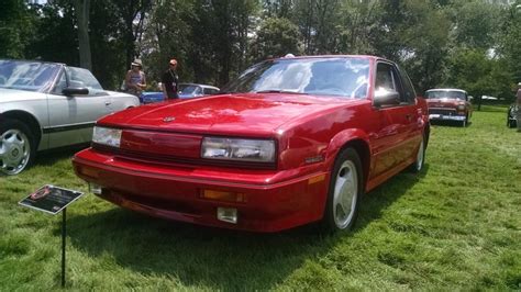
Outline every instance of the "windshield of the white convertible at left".
<path fill-rule="evenodd" d="M 0 60 L 0 88 L 42 91 L 51 86 L 59 67 L 40 61 Z"/>

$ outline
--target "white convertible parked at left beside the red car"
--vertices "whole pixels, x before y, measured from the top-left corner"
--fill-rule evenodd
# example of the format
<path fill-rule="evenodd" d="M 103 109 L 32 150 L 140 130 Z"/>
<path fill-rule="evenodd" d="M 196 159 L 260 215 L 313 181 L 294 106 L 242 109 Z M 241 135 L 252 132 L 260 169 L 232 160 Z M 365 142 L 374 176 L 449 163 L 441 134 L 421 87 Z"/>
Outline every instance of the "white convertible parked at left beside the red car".
<path fill-rule="evenodd" d="M 16 175 L 37 150 L 90 142 L 103 115 L 138 105 L 65 64 L 0 59 L 0 175 Z"/>

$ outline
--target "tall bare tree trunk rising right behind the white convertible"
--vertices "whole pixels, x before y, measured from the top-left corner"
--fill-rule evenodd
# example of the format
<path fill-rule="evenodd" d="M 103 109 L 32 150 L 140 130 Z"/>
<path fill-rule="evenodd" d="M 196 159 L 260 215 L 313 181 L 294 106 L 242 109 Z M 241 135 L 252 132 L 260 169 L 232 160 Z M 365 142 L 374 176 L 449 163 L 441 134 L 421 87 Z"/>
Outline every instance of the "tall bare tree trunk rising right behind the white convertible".
<path fill-rule="evenodd" d="M 90 0 L 74 1 L 78 20 L 79 66 L 92 70 L 89 40 Z"/>

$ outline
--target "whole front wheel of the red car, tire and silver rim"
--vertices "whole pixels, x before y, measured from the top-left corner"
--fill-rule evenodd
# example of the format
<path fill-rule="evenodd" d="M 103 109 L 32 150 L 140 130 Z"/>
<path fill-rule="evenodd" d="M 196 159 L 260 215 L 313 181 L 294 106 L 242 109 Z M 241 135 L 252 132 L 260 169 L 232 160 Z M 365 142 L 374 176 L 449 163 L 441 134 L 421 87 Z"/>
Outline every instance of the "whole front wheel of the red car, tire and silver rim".
<path fill-rule="evenodd" d="M 353 148 L 343 149 L 331 172 L 322 227 L 329 233 L 350 231 L 355 224 L 364 190 L 362 162 Z"/>

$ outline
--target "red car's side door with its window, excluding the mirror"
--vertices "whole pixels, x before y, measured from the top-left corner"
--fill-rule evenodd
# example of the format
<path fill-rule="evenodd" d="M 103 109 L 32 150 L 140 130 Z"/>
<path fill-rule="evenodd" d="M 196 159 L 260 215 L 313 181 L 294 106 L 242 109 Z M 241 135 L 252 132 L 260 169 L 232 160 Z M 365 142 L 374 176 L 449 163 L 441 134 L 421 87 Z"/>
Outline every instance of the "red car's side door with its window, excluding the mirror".
<path fill-rule="evenodd" d="M 375 78 L 375 92 L 396 91 L 400 102 L 375 109 L 378 111 L 380 126 L 374 133 L 372 178 L 387 177 L 397 171 L 411 157 L 414 145 L 413 124 L 415 112 L 413 93 L 403 90 L 398 68 L 390 63 L 378 61 Z M 413 92 L 413 91 L 412 91 Z"/>

